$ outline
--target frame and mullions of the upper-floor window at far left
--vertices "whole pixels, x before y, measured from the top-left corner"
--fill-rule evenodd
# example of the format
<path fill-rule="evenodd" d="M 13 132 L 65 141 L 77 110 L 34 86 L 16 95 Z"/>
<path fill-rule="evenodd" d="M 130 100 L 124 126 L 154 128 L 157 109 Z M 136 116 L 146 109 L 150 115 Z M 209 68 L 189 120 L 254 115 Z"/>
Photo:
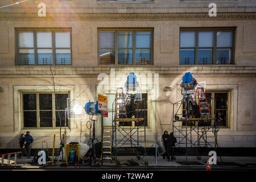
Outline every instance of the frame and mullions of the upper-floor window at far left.
<path fill-rule="evenodd" d="M 19 33 L 20 32 L 33 32 L 34 48 L 19 48 Z M 37 47 L 37 32 L 51 32 L 52 33 L 52 64 L 38 64 L 38 49 L 50 49 L 50 48 L 38 48 Z M 55 43 L 56 32 L 69 32 L 70 35 L 70 48 L 57 48 Z M 67 66 L 72 65 L 72 29 L 71 28 L 15 28 L 15 64 L 18 66 Z M 19 49 L 34 49 L 34 64 L 19 64 Z M 70 49 L 71 50 L 71 63 L 70 64 L 56 64 L 56 49 Z"/>

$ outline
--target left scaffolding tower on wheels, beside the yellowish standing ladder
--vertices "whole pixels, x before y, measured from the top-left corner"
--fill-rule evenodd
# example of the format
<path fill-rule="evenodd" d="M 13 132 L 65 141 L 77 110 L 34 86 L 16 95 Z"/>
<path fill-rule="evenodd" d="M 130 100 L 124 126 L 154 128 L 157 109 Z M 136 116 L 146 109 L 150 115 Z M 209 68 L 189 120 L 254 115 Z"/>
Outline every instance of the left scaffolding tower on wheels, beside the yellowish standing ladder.
<path fill-rule="evenodd" d="M 118 91 L 119 90 L 119 91 Z M 144 104 L 144 109 L 139 107 Z M 127 107 L 130 106 L 130 109 Z M 112 148 L 113 155 L 121 147 L 137 148 L 137 155 L 146 154 L 146 100 L 136 94 L 123 94 L 117 88 L 113 101 L 112 115 Z"/>

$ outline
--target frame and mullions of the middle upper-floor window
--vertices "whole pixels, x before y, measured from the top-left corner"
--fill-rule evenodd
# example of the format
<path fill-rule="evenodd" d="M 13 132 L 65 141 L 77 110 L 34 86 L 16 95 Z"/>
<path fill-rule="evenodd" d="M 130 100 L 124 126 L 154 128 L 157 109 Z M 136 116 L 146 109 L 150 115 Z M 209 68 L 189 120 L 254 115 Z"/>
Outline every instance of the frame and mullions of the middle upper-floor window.
<path fill-rule="evenodd" d="M 100 32 L 114 32 L 114 48 L 101 48 L 100 47 Z M 132 48 L 118 48 L 118 32 L 132 32 L 133 33 L 133 47 Z M 150 48 L 136 48 L 136 32 L 150 32 L 151 45 Z M 152 66 L 154 65 L 154 28 L 98 28 L 98 51 L 97 62 L 98 66 L 102 67 L 134 67 L 134 66 Z M 100 50 L 113 49 L 115 51 L 115 64 L 100 64 Z M 118 49 L 133 49 L 133 64 L 118 64 Z M 150 49 L 150 64 L 136 64 L 136 49 Z"/>

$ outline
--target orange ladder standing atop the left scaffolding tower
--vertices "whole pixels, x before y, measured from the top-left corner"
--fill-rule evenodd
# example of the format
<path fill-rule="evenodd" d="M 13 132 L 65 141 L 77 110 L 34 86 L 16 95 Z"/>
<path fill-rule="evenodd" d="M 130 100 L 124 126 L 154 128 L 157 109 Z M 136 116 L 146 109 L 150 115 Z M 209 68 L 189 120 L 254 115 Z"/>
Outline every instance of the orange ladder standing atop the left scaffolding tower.
<path fill-rule="evenodd" d="M 117 88 L 115 94 L 115 116 L 119 118 L 127 118 L 126 105 L 125 105 L 125 94 L 123 94 L 123 88 Z"/>

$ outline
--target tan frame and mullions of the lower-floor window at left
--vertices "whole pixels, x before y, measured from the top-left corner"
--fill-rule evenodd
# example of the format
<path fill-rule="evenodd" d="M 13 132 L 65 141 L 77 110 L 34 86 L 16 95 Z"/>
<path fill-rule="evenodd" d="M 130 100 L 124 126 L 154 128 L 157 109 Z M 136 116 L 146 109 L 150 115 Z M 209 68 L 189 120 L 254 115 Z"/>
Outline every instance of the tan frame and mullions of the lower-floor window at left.
<path fill-rule="evenodd" d="M 56 109 L 55 109 L 55 94 L 52 92 L 21 92 L 21 97 L 20 97 L 20 104 L 21 104 L 21 118 L 22 118 L 22 129 L 47 129 L 47 130 L 52 130 L 52 129 L 59 129 L 60 127 L 56 127 Z M 36 94 L 36 110 L 31 110 L 31 111 L 36 111 L 36 127 L 24 127 L 24 109 L 23 109 L 23 94 Z M 45 110 L 40 110 L 39 107 L 39 94 L 52 94 L 52 127 L 40 127 L 40 111 L 45 111 Z M 69 92 L 59 92 L 57 94 L 68 94 L 69 97 Z M 30 110 L 26 110 L 30 111 Z M 62 110 L 60 110 L 62 111 Z M 70 121 L 67 118 L 67 128 L 70 129 Z"/>

